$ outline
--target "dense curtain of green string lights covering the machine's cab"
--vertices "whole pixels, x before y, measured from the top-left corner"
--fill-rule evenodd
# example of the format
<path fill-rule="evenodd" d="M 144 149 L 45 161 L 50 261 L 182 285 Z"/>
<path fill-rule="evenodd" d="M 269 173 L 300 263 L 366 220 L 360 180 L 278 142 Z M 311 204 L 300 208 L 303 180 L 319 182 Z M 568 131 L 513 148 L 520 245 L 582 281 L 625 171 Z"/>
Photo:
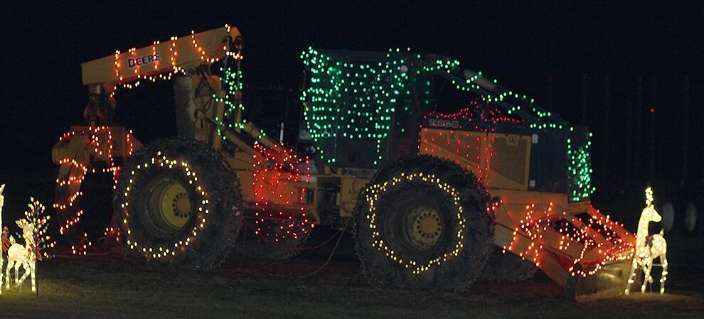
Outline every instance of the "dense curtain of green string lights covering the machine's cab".
<path fill-rule="evenodd" d="M 311 72 L 311 86 L 302 94 L 304 119 L 321 158 L 340 161 L 339 139 L 368 140 L 376 144 L 370 166 L 383 164 L 392 130 L 406 134 L 419 107 L 432 109 L 434 72 L 459 65 L 400 49 L 381 55 L 309 48 L 301 58 Z"/>

